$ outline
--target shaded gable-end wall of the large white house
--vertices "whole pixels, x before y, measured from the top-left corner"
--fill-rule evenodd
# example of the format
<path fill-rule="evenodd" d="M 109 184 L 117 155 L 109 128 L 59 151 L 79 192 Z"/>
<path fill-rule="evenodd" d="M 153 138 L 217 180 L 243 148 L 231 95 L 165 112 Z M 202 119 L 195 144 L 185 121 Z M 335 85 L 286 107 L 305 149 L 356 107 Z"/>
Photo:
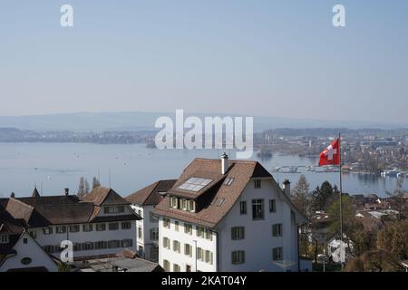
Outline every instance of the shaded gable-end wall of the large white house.
<path fill-rule="evenodd" d="M 264 219 L 252 219 L 252 199 L 264 199 Z M 269 199 L 276 199 L 276 212 L 269 212 Z M 247 215 L 240 215 L 239 202 L 247 201 Z M 283 247 L 283 258 L 296 264 L 289 269 L 297 271 L 297 227 L 291 209 L 280 189 L 269 179 L 262 179 L 261 188 L 254 189 L 249 182 L 228 216 L 219 224 L 219 271 L 282 271 L 272 261 L 274 247 Z M 282 237 L 272 236 L 272 225 L 282 224 Z M 245 227 L 245 238 L 231 239 L 231 227 Z M 245 263 L 233 265 L 231 252 L 245 251 Z"/>

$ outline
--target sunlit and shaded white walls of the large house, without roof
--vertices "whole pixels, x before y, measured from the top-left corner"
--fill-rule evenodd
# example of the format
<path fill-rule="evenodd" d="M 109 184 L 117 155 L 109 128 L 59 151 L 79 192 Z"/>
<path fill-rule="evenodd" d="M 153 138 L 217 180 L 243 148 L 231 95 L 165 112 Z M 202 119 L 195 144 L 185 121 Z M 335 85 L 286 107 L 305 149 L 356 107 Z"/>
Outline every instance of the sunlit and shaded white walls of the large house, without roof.
<path fill-rule="evenodd" d="M 258 201 L 263 200 L 263 218 L 254 220 L 252 216 L 252 201 L 256 199 Z M 270 200 L 275 200 L 272 201 L 272 204 L 274 204 L 272 208 L 275 208 L 275 211 L 269 210 Z M 240 212 L 241 201 L 247 202 L 246 214 L 241 214 Z M 261 187 L 259 189 L 255 189 L 254 180 L 250 180 L 236 204 L 229 210 L 227 216 L 211 231 L 211 239 L 197 237 L 197 227 L 199 225 L 193 224 L 192 235 L 189 235 L 184 231 L 184 221 L 170 218 L 169 228 L 165 227 L 166 223 L 163 221 L 166 218 L 160 217 L 160 266 L 166 271 L 180 270 L 181 272 L 188 269 L 192 272 L 297 271 L 298 228 L 296 225 L 299 221 L 296 221 L 295 218 L 296 214 L 293 207 L 291 207 L 287 197 L 272 179 L 261 179 Z M 175 227 L 176 222 L 179 222 L 178 231 Z M 277 237 L 273 236 L 273 225 L 281 225 L 275 226 L 280 228 Z M 231 237 L 232 227 L 244 227 L 244 238 L 233 240 Z M 165 238 L 170 239 L 170 249 L 163 245 Z M 180 253 L 174 250 L 174 241 L 180 241 Z M 192 255 L 185 254 L 185 244 L 192 246 Z M 204 261 L 199 258 L 196 259 L 196 249 L 199 248 L 210 253 L 204 257 Z M 276 261 L 273 259 L 274 249 L 276 253 L 279 253 L 278 256 L 281 256 Z M 239 261 L 239 258 L 237 260 L 237 256 L 242 256 L 242 252 L 237 253 L 235 251 L 244 251 L 245 260 Z M 209 259 L 209 256 L 212 256 L 212 261 Z M 233 256 L 235 256 L 234 261 L 236 263 L 232 261 Z M 283 262 L 289 266 L 279 266 Z"/>

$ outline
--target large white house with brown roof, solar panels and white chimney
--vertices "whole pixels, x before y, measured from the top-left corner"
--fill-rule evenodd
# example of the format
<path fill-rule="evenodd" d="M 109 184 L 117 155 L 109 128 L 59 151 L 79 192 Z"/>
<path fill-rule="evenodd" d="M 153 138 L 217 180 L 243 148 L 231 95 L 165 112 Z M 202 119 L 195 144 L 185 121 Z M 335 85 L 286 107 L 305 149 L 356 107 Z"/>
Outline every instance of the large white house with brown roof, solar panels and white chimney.
<path fill-rule="evenodd" d="M 193 160 L 154 209 L 166 271 L 298 271 L 306 223 L 257 161 Z"/>

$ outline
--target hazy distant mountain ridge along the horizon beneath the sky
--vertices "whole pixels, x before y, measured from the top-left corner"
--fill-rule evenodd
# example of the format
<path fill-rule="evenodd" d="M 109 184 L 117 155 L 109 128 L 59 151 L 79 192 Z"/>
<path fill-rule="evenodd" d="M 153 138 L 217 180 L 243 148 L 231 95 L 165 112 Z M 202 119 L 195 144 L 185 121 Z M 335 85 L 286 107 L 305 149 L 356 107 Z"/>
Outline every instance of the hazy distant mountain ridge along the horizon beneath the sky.
<path fill-rule="evenodd" d="M 241 116 L 226 113 L 186 113 L 188 116 Z M 174 120 L 175 111 L 170 112 L 73 112 L 29 116 L 0 116 L 0 127 L 31 131 L 154 131 L 154 123 L 160 116 Z M 323 121 L 268 116 L 254 116 L 254 131 L 277 128 L 349 128 L 349 129 L 398 129 L 406 124 L 369 121 Z"/>

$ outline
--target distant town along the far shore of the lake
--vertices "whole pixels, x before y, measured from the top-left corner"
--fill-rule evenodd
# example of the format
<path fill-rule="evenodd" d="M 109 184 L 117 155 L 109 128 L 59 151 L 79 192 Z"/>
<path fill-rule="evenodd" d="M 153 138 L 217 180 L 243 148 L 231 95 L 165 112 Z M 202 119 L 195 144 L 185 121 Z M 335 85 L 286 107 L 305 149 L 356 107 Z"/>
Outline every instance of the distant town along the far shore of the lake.
<path fill-rule="evenodd" d="M 408 129 L 275 129 L 254 134 L 258 157 L 268 158 L 276 152 L 317 157 L 327 140 L 342 133 L 344 172 L 371 173 L 406 177 L 408 171 Z M 0 128 L 0 142 L 72 142 L 96 144 L 143 143 L 155 148 L 157 131 L 24 131 Z M 276 169 L 296 172 L 297 168 Z M 319 170 L 310 167 L 306 170 Z M 334 170 L 334 169 L 325 169 Z"/>

